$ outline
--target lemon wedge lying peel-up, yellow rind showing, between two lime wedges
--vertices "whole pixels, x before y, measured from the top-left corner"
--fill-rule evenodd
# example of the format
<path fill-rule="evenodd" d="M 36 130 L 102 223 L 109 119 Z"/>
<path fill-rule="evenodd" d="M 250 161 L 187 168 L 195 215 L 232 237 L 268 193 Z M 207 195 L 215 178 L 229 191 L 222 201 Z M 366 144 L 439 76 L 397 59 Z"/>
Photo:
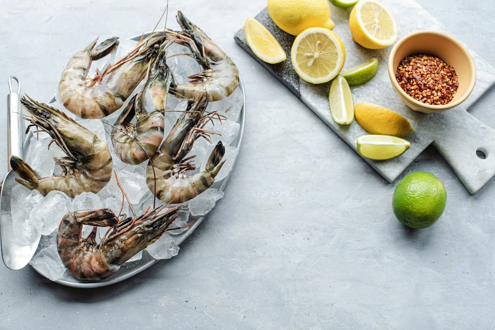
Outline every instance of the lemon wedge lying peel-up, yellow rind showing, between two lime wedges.
<path fill-rule="evenodd" d="M 354 107 L 357 124 L 370 134 L 405 137 L 413 131 L 409 121 L 395 111 L 367 102 Z"/>

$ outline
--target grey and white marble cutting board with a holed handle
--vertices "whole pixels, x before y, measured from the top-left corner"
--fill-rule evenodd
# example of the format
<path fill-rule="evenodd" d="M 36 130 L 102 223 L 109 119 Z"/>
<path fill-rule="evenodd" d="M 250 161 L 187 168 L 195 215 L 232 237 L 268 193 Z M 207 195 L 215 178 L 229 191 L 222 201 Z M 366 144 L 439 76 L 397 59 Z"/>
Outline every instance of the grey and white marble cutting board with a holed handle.
<path fill-rule="evenodd" d="M 382 2 L 396 19 L 399 39 L 419 30 L 434 30 L 451 35 L 435 17 L 413 0 Z M 466 109 L 494 84 L 495 69 L 470 50 L 476 64 L 477 82 L 468 99 L 446 112 L 415 112 L 403 105 L 392 89 L 387 71 L 388 55 L 392 46 L 380 50 L 361 47 L 352 41 L 350 35 L 348 17 L 351 8 L 343 9 L 331 5 L 331 9 L 335 22 L 333 31 L 341 37 L 346 47 L 346 63 L 343 70 L 374 56 L 378 57 L 380 63 L 378 74 L 370 82 L 351 87 L 354 102 L 371 102 L 392 109 L 406 117 L 414 128 L 414 131 L 406 136 L 411 142 L 411 147 L 400 157 L 388 161 L 363 160 L 387 181 L 393 182 L 430 144 L 433 144 L 471 194 L 481 189 L 495 174 L 495 130 L 474 118 Z M 295 37 L 280 30 L 271 20 L 266 8 L 254 17 L 282 44 L 287 53 L 287 60 L 274 65 L 259 60 L 246 43 L 244 27 L 235 34 L 236 42 L 355 150 L 357 137 L 367 133 L 355 121 L 350 125 L 339 125 L 333 121 L 328 104 L 330 83 L 313 85 L 299 79 L 290 62 L 290 49 Z"/>

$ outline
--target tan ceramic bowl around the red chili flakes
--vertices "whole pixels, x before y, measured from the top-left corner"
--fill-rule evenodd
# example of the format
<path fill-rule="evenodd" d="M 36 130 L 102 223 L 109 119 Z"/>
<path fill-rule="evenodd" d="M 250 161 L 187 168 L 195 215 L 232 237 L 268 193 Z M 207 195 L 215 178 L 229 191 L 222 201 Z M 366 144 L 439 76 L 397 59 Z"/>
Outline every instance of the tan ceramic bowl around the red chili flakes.
<path fill-rule="evenodd" d="M 457 74 L 459 86 L 450 102 L 443 105 L 431 105 L 409 96 L 396 81 L 399 62 L 413 54 L 438 56 L 452 66 Z M 389 56 L 389 77 L 395 92 L 402 103 L 415 111 L 424 113 L 441 112 L 462 103 L 473 91 L 476 83 L 476 67 L 469 50 L 454 38 L 435 31 L 418 31 L 396 42 Z"/>

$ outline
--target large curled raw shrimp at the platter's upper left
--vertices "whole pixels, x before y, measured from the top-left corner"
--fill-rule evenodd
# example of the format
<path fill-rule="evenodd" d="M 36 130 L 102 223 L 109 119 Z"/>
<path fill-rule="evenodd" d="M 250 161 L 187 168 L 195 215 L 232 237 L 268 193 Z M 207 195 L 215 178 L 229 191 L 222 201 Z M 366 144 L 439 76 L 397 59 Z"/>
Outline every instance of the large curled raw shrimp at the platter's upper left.
<path fill-rule="evenodd" d="M 59 101 L 80 118 L 103 118 L 119 109 L 146 76 L 148 64 L 158 53 L 165 37 L 154 33 L 142 38 L 125 57 L 102 73 L 97 70 L 97 75 L 89 78 L 92 61 L 118 46 L 117 38 L 110 38 L 95 47 L 97 40 L 72 56 L 58 83 Z"/>

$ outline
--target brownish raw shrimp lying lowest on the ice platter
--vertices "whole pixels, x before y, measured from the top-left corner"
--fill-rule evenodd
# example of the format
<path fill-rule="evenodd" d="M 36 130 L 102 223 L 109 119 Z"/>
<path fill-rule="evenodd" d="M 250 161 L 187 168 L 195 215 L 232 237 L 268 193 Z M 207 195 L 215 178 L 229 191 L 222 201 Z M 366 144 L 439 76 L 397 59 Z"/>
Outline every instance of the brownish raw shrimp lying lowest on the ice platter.
<path fill-rule="evenodd" d="M 101 280 L 119 270 L 120 265 L 160 238 L 177 217 L 180 206 L 158 206 L 135 217 L 118 221 L 108 209 L 68 212 L 58 227 L 57 248 L 63 264 L 80 280 Z M 114 227 L 97 244 L 96 229 L 81 237 L 83 225 Z"/>

